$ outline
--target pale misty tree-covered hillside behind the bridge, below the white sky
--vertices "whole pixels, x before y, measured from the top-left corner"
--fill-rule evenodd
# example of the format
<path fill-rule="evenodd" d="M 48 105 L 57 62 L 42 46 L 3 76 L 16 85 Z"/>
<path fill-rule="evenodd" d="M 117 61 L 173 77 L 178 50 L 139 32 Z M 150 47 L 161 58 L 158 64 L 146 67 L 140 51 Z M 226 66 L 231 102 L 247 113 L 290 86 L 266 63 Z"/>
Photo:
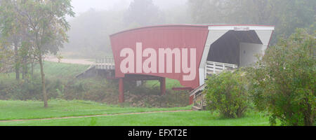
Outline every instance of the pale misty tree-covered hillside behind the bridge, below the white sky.
<path fill-rule="evenodd" d="M 162 1 L 157 3 L 166 5 Z M 70 20 L 72 27 L 67 33 L 69 43 L 65 43 L 62 55 L 91 59 L 105 57 L 112 55 L 110 34 L 142 26 L 192 23 L 186 3 L 175 3 L 176 1 L 171 4 L 172 8 L 160 8 L 152 2 L 138 2 L 125 10 L 91 8 L 85 13 L 77 14 L 76 18 Z"/>

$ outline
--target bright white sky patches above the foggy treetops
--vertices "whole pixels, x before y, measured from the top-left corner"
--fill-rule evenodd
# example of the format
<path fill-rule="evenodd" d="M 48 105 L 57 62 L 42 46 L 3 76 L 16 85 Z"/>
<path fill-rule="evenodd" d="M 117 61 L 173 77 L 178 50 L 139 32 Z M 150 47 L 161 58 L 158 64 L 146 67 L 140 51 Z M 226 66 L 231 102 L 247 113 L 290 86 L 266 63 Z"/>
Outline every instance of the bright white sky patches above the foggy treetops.
<path fill-rule="evenodd" d="M 128 8 L 133 0 L 72 0 L 74 12 L 78 14 L 94 8 L 95 10 L 121 10 Z M 187 0 L 153 0 L 161 9 L 181 5 Z"/>

